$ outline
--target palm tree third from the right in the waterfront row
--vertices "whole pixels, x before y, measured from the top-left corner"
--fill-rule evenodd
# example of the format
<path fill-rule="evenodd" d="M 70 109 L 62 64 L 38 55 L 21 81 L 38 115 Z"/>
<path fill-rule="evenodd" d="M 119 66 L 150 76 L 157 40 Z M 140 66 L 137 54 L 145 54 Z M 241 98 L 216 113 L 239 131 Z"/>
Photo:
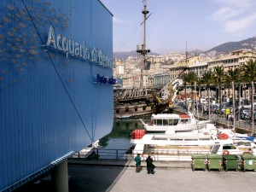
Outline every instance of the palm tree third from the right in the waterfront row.
<path fill-rule="evenodd" d="M 221 105 L 222 102 L 222 95 L 221 95 L 221 86 L 224 83 L 224 67 L 223 66 L 217 66 L 213 68 L 214 73 L 214 84 L 218 85 L 218 104 Z"/>

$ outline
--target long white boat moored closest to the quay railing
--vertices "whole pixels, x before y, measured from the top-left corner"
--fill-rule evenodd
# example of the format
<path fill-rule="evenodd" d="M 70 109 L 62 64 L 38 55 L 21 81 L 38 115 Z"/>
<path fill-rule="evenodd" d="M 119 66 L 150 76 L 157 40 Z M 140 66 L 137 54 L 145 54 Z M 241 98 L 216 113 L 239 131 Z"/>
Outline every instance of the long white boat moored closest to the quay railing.
<path fill-rule="evenodd" d="M 142 131 L 140 131 L 142 132 Z M 191 160 L 192 154 L 245 154 L 232 137 L 218 137 L 218 129 L 212 124 L 192 131 L 175 131 L 168 134 L 146 134 L 133 137 L 132 155 L 151 154 L 154 160 Z"/>

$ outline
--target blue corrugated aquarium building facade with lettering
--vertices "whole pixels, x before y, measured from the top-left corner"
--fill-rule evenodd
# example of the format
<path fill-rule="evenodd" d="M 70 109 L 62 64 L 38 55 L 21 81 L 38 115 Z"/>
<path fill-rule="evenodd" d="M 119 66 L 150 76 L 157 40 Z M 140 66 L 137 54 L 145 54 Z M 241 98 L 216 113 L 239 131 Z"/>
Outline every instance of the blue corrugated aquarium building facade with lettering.
<path fill-rule="evenodd" d="M 98 0 L 2 0 L 0 191 L 108 134 L 113 15 Z"/>

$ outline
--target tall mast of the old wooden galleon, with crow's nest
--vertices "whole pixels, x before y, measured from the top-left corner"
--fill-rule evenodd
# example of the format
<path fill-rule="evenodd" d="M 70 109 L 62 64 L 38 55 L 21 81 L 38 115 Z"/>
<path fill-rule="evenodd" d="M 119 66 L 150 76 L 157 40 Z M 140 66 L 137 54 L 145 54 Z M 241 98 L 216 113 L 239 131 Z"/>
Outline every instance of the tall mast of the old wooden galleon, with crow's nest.
<path fill-rule="evenodd" d="M 143 0 L 144 2 L 144 9 L 142 11 L 144 15 L 144 20 L 143 20 L 143 44 L 141 46 L 137 45 L 137 53 L 139 53 L 142 57 L 142 61 L 140 64 L 141 68 L 141 82 L 140 82 L 140 88 L 143 88 L 143 73 L 145 69 L 145 61 L 146 61 L 146 54 L 150 52 L 150 49 L 146 49 L 146 20 L 148 19 L 147 15 L 149 13 L 147 9 L 147 0 Z"/>

